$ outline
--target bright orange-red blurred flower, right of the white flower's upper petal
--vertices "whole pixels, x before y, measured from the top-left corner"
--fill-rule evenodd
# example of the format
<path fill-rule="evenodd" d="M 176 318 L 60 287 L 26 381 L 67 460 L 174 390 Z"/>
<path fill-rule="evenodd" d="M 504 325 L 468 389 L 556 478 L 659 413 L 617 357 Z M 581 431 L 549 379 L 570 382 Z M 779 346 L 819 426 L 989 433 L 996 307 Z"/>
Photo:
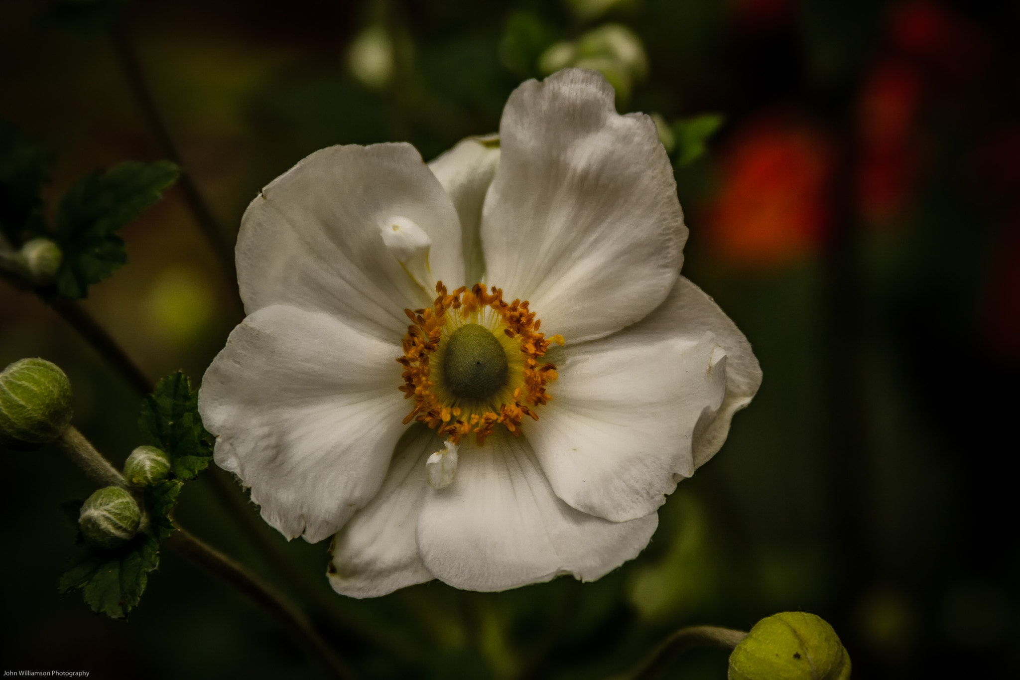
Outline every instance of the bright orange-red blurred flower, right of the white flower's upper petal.
<path fill-rule="evenodd" d="M 736 134 L 706 225 L 712 246 L 747 266 L 784 264 L 817 250 L 829 221 L 831 146 L 804 123 L 767 117 Z"/>

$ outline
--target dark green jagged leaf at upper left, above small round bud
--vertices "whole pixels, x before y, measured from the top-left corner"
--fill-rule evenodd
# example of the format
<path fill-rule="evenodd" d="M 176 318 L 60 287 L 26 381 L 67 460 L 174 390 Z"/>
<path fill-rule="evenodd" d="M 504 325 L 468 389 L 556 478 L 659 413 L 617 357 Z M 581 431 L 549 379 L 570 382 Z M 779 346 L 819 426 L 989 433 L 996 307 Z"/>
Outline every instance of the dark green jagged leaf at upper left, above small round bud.
<path fill-rule="evenodd" d="M 71 187 L 57 207 L 57 245 L 63 265 L 57 291 L 84 298 L 89 285 L 128 262 L 117 231 L 158 201 L 181 170 L 169 161 L 125 162 L 93 172 Z"/>

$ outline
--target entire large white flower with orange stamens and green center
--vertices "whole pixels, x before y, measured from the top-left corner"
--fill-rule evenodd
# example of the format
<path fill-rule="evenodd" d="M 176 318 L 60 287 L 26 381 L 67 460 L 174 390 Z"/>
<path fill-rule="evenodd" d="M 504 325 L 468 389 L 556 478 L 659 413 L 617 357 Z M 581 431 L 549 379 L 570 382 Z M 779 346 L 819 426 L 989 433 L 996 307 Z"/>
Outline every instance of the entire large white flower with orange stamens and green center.
<path fill-rule="evenodd" d="M 341 593 L 597 579 L 761 381 L 685 240 L 655 124 L 592 71 L 428 165 L 318 151 L 245 213 L 248 317 L 199 395 L 215 460 L 288 538 L 336 534 Z"/>

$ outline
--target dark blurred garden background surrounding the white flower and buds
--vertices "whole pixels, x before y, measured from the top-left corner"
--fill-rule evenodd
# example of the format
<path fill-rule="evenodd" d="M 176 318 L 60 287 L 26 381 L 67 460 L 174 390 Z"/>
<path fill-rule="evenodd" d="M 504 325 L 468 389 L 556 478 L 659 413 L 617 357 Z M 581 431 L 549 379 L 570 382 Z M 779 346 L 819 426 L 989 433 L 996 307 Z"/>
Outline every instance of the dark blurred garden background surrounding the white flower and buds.
<path fill-rule="evenodd" d="M 0 116 L 58 154 L 51 205 L 86 171 L 164 157 L 109 35 L 54 7 L 0 4 Z M 1020 675 L 1008 472 L 1020 3 L 138 0 L 124 12 L 232 243 L 251 197 L 318 148 L 407 140 L 430 159 L 496 130 L 522 80 L 603 70 L 621 111 L 663 122 L 691 227 L 684 274 L 761 361 L 761 391 L 718 457 L 662 508 L 648 550 L 593 584 L 430 583 L 352 600 L 326 583 L 325 542 L 244 521 L 256 513 L 240 489 L 217 492 L 219 471 L 188 484 L 182 523 L 306 607 L 365 678 L 606 677 L 678 626 L 747 629 L 785 610 L 828 620 L 856 678 Z M 706 113 L 723 120 L 708 152 L 681 157 Z M 180 189 L 123 236 L 130 264 L 87 309 L 151 378 L 199 379 L 239 320 L 233 281 Z M 27 356 L 64 368 L 74 424 L 115 463 L 140 443 L 131 387 L 37 298 L 0 286 L 0 366 Z M 324 677 L 275 622 L 168 551 L 126 622 L 60 596 L 74 530 L 59 504 L 92 487 L 50 449 L 4 466 L 4 670 Z M 723 678 L 725 658 L 693 652 L 662 677 Z"/>

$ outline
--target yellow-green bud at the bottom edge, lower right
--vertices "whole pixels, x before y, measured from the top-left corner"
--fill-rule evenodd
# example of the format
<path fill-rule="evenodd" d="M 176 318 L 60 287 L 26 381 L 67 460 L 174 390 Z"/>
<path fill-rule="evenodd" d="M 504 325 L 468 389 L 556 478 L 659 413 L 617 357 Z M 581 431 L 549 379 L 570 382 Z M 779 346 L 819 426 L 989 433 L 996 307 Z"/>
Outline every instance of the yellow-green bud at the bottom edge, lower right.
<path fill-rule="evenodd" d="M 783 612 L 755 624 L 729 656 L 729 680 L 850 680 L 850 655 L 814 614 Z"/>

